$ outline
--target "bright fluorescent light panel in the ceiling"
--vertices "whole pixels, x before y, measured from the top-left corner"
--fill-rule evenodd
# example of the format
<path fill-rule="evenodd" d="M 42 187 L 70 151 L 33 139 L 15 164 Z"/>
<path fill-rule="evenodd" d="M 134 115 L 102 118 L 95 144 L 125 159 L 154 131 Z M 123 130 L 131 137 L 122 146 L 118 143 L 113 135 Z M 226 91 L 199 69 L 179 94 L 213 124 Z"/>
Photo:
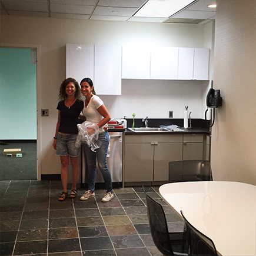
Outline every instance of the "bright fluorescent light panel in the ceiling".
<path fill-rule="evenodd" d="M 194 0 L 149 0 L 134 16 L 168 18 Z"/>

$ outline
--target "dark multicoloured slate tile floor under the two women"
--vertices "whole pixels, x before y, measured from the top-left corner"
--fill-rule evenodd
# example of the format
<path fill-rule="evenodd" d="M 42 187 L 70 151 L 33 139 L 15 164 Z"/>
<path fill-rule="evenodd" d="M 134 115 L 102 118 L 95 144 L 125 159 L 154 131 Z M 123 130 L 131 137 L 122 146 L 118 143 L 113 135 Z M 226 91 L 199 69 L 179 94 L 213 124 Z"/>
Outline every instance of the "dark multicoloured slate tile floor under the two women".
<path fill-rule="evenodd" d="M 115 188 L 115 197 L 101 202 L 78 197 L 59 202 L 60 181 L 0 181 L 0 255 L 83 256 L 162 255 L 152 241 L 145 195 L 141 187 Z M 159 197 L 168 226 L 181 231 L 182 219 Z"/>

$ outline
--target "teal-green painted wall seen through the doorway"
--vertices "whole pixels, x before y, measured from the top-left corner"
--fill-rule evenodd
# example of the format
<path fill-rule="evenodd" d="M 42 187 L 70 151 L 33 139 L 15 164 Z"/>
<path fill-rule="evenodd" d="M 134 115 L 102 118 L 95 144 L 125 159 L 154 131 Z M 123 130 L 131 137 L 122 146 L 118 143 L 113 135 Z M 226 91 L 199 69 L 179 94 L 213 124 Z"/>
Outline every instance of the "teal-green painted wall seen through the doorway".
<path fill-rule="evenodd" d="M 36 65 L 30 49 L 0 48 L 0 139 L 36 139 Z"/>

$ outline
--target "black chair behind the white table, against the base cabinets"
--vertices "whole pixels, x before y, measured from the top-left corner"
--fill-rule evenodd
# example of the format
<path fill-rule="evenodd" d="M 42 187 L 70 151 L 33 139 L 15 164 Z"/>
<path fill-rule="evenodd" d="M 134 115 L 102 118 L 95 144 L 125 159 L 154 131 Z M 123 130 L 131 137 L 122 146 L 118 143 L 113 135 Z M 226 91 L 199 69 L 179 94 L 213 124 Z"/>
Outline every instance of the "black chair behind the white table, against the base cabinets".
<path fill-rule="evenodd" d="M 169 162 L 169 182 L 212 181 L 210 161 L 184 160 Z"/>

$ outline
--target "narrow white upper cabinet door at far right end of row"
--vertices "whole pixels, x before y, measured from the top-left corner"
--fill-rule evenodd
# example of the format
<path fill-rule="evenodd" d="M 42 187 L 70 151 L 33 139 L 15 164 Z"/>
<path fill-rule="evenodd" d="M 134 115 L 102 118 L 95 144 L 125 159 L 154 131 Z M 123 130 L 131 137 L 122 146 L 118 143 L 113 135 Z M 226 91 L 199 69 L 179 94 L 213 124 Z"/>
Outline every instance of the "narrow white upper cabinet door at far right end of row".
<path fill-rule="evenodd" d="M 209 79 L 209 57 L 210 49 L 195 48 L 194 49 L 194 77 L 196 80 Z"/>

